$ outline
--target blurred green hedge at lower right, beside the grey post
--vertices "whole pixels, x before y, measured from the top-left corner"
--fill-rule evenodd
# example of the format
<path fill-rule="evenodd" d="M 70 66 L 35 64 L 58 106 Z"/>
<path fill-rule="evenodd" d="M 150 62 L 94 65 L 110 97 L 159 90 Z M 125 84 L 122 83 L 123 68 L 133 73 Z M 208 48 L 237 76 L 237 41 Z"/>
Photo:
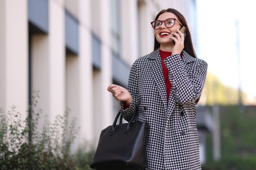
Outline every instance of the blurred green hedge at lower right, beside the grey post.
<path fill-rule="evenodd" d="M 256 169 L 256 107 L 222 106 L 221 160 L 213 161 L 213 139 L 207 135 L 207 162 L 203 169 Z"/>

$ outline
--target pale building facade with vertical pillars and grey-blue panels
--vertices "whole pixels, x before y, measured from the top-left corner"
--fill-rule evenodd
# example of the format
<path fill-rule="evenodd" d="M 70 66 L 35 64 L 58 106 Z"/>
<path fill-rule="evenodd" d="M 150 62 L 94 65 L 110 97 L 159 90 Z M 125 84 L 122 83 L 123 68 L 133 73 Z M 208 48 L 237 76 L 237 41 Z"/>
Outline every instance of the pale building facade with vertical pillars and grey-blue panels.
<path fill-rule="evenodd" d="M 38 107 L 51 122 L 67 108 L 77 118 L 75 148 L 85 141 L 96 144 L 119 107 L 106 88 L 112 83 L 127 86 L 132 63 L 153 50 L 150 22 L 161 9 L 172 7 L 195 30 L 194 3 L 0 1 L 1 109 L 16 105 L 25 118 L 32 92 L 39 90 Z"/>

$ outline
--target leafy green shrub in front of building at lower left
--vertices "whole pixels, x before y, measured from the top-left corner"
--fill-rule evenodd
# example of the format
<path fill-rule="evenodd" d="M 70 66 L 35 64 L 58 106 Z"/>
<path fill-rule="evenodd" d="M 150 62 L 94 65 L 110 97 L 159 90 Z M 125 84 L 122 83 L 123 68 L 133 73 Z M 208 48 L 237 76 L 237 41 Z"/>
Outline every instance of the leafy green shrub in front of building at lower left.
<path fill-rule="evenodd" d="M 23 122 L 14 106 L 7 114 L 1 112 L 0 169 L 89 169 L 93 150 L 87 149 L 89 154 L 83 148 L 76 154 L 70 152 L 78 131 L 77 120 L 69 122 L 67 110 L 52 124 L 40 122 L 42 110 L 36 108 L 37 97 L 38 92 L 34 92 L 29 108 L 32 118 L 28 116 Z"/>

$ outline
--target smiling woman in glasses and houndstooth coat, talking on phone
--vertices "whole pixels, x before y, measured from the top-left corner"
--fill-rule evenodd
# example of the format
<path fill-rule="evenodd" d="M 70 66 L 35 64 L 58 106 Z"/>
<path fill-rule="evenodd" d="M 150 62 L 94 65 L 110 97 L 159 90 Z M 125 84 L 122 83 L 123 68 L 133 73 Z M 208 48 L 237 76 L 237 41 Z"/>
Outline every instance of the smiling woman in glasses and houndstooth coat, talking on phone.
<path fill-rule="evenodd" d="M 201 169 L 196 103 L 207 63 L 196 58 L 180 12 L 161 10 L 151 24 L 154 52 L 133 63 L 128 90 L 112 84 L 108 91 L 121 101 L 126 120 L 139 106 L 139 120 L 149 123 L 146 169 Z M 185 33 L 179 31 L 182 26 Z"/>

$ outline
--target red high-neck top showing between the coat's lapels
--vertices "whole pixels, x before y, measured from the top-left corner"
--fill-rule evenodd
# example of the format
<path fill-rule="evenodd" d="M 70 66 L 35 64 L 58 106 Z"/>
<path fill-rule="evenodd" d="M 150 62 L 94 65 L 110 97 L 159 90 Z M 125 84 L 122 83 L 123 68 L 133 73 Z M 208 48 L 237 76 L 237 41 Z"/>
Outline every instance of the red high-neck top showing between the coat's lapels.
<path fill-rule="evenodd" d="M 165 52 L 165 51 L 160 50 L 161 67 L 163 68 L 163 78 L 165 80 L 165 86 L 166 86 L 166 90 L 167 90 L 167 101 L 169 100 L 169 95 L 171 92 L 171 82 L 168 77 L 168 69 L 165 66 L 165 64 L 163 63 L 163 59 L 165 59 L 169 56 L 171 56 L 171 52 Z"/>

